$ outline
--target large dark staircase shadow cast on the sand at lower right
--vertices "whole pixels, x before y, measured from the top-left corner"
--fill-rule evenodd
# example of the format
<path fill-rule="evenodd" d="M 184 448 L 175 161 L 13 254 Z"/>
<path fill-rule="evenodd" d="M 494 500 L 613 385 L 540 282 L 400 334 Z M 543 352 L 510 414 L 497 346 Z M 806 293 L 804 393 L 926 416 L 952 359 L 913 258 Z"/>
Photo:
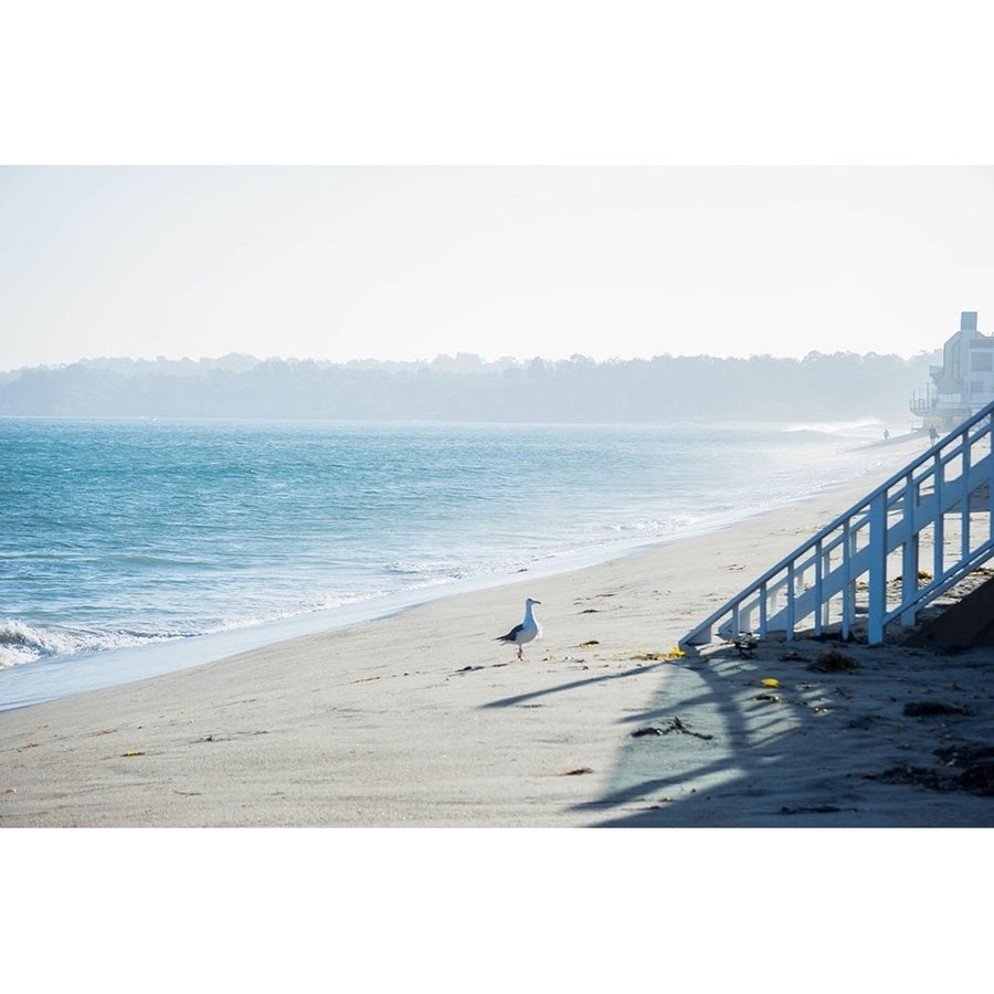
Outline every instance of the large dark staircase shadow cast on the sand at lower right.
<path fill-rule="evenodd" d="M 745 652 L 723 643 L 483 707 L 519 707 L 653 675 L 647 697 L 635 685 L 643 706 L 612 719 L 618 734 L 610 769 L 585 771 L 598 786 L 567 808 L 589 827 L 994 824 L 991 797 L 972 796 L 954 782 L 962 770 L 934 754 L 939 744 L 990 734 L 994 715 L 921 722 L 903 710 L 909 695 L 933 695 L 940 675 L 961 680 L 964 692 L 967 680 L 985 679 L 994 649 L 979 660 L 953 659 L 868 646 L 858 635 L 844 642 L 837 632 L 808 631 Z M 942 782 L 929 782 L 932 773 Z"/>

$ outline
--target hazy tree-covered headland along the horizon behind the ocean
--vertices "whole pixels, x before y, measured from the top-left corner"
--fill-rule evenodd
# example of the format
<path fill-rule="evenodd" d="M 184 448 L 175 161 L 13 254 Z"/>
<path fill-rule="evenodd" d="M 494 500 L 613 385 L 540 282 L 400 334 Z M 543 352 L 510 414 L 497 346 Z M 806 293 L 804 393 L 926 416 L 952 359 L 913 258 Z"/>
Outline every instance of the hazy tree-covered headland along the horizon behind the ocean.
<path fill-rule="evenodd" d="M 433 362 L 84 360 L 0 373 L 0 415 L 624 422 L 879 417 L 908 400 L 938 353 L 804 359 L 656 356 L 595 362 L 442 356 Z"/>

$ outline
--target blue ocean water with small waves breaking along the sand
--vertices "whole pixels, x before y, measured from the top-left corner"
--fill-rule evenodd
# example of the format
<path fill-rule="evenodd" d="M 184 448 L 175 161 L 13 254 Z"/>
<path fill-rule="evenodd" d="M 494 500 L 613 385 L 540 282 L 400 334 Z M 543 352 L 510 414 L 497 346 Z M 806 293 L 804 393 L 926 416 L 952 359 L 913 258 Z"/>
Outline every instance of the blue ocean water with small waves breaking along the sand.
<path fill-rule="evenodd" d="M 875 424 L 0 419 L 0 709 L 707 530 Z"/>

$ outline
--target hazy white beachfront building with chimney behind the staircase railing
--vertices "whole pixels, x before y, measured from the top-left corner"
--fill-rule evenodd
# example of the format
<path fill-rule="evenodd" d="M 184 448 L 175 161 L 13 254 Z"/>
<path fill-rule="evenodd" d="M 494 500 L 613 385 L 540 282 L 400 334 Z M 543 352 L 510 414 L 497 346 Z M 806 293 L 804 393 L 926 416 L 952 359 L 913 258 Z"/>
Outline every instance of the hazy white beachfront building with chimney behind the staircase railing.
<path fill-rule="evenodd" d="M 948 432 L 994 401 L 994 337 L 976 330 L 976 311 L 960 315 L 960 330 L 942 348 L 942 366 L 929 369 L 932 384 L 911 396 L 921 426 Z"/>

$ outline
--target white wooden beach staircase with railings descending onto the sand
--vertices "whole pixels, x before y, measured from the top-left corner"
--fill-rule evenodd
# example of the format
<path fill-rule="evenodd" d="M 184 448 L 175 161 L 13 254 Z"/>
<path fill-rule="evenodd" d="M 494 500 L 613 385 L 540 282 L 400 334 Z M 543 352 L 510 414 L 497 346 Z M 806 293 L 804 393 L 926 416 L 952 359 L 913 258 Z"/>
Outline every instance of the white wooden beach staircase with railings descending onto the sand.
<path fill-rule="evenodd" d="M 994 553 L 994 403 L 825 526 L 688 632 L 680 646 L 764 638 L 800 628 L 848 638 L 858 624 L 870 645 Z M 950 521 L 959 535 L 947 542 Z M 930 547 L 930 548 L 929 548 Z M 888 581 L 888 574 L 891 580 Z"/>

